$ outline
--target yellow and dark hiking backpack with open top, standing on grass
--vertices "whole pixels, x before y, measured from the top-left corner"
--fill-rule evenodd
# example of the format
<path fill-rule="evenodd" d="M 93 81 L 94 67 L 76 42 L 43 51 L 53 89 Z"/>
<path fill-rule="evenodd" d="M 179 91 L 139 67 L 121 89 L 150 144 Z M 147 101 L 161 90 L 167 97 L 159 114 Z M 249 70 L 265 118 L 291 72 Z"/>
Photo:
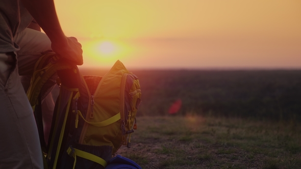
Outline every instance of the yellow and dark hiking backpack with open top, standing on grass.
<path fill-rule="evenodd" d="M 60 94 L 45 143 L 41 95 L 59 77 Z M 102 76 L 83 76 L 75 65 L 46 53 L 35 66 L 28 98 L 34 109 L 47 168 L 104 168 L 122 145 L 131 147 L 141 103 L 139 79 L 118 60 Z"/>

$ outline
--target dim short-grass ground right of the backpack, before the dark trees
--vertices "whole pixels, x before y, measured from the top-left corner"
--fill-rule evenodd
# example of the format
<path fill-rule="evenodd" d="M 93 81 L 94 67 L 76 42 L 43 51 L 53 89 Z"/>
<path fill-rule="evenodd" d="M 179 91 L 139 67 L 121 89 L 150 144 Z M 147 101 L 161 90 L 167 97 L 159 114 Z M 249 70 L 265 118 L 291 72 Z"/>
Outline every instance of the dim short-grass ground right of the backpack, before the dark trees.
<path fill-rule="evenodd" d="M 187 115 L 139 117 L 132 148 L 142 168 L 301 168 L 301 126 Z"/>

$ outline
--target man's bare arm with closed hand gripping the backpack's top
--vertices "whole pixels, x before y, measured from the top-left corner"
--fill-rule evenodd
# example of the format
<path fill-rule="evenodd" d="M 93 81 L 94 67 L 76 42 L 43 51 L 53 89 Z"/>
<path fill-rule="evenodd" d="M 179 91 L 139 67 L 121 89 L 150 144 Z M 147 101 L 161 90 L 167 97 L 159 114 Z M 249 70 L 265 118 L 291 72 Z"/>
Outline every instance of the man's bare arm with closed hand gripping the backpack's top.
<path fill-rule="evenodd" d="M 52 42 L 52 49 L 61 57 L 83 64 L 83 50 L 76 38 L 63 33 L 53 0 L 20 0 Z"/>

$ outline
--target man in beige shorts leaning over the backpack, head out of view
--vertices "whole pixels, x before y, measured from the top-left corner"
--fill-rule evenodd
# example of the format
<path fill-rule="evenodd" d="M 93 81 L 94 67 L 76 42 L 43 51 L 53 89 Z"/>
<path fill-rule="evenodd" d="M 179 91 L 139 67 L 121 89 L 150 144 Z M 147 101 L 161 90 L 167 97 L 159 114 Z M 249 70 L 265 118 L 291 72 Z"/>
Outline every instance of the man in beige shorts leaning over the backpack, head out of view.
<path fill-rule="evenodd" d="M 46 35 L 26 28 L 33 18 Z M 81 44 L 64 35 L 53 0 L 1 0 L 0 168 L 43 168 L 32 108 L 19 75 L 31 75 L 41 52 L 48 49 L 83 64 Z"/>

